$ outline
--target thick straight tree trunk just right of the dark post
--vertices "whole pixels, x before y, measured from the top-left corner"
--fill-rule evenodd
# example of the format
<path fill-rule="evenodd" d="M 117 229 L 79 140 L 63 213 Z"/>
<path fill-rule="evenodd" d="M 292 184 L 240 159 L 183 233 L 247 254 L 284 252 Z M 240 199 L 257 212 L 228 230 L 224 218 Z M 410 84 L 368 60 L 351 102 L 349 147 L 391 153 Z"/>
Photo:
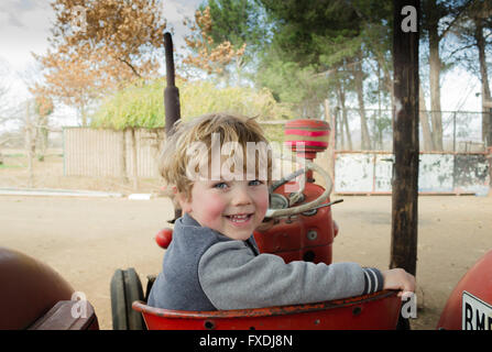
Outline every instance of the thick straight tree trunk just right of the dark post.
<path fill-rule="evenodd" d="M 442 116 L 440 108 L 440 68 L 439 35 L 437 22 L 429 26 L 429 72 L 430 72 L 430 110 L 433 117 L 433 142 L 436 151 L 442 148 Z"/>

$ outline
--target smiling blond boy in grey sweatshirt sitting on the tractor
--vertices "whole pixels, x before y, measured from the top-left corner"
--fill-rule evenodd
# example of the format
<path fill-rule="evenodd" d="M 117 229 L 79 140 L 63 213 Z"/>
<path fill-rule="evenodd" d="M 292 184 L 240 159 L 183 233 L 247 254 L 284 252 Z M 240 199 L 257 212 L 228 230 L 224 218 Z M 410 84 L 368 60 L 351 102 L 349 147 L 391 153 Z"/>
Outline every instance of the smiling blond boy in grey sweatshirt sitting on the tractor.
<path fill-rule="evenodd" d="M 221 146 L 236 143 L 234 153 L 229 154 L 239 161 L 233 163 L 233 174 L 230 167 L 220 167 L 217 174 L 217 158 L 211 154 L 219 140 Z M 259 177 L 262 163 L 244 155 L 248 142 L 267 143 L 260 125 L 248 118 L 208 114 L 175 127 L 163 151 L 161 172 L 175 187 L 184 216 L 175 222 L 150 306 L 244 309 L 317 302 L 381 289 L 414 292 L 415 278 L 403 270 L 380 272 L 356 263 L 286 264 L 277 255 L 260 254 L 252 233 L 264 226 L 269 183 Z M 195 155 L 196 151 L 201 154 Z M 225 155 L 220 153 L 219 158 L 222 162 Z M 244 161 L 250 166 L 248 173 L 240 164 Z M 271 167 L 267 160 L 269 175 Z"/>

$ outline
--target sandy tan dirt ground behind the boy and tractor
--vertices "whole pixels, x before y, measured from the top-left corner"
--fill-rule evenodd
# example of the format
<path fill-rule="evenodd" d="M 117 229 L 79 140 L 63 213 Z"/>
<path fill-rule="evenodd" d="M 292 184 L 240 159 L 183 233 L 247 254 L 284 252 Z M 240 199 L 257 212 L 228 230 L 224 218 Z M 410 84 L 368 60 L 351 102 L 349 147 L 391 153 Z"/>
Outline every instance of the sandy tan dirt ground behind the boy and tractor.
<path fill-rule="evenodd" d="M 19 167 L 11 167 L 12 165 Z M 6 157 L 0 187 L 26 187 L 19 157 Z M 25 165 L 25 164 L 24 164 Z M 35 164 L 35 187 L 122 191 L 131 186 L 111 179 L 64 177 L 59 156 Z M 145 182 L 139 191 L 157 191 Z M 340 232 L 334 261 L 387 267 L 391 197 L 334 196 Z M 435 329 L 452 288 L 492 249 L 492 197 L 419 197 L 417 300 L 413 329 Z M 56 270 L 95 307 L 101 329 L 111 329 L 109 285 L 117 268 L 134 267 L 143 282 L 157 274 L 164 251 L 155 233 L 173 217 L 165 198 L 75 198 L 0 196 L 0 245 L 36 257 Z"/>

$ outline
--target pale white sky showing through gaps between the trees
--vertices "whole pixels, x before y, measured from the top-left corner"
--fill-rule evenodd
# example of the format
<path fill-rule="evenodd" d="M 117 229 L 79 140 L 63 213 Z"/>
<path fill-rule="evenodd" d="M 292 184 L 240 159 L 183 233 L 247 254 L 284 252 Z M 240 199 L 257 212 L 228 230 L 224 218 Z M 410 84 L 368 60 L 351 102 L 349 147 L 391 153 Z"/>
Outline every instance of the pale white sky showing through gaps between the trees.
<path fill-rule="evenodd" d="M 51 23 L 54 13 L 51 1 L 40 0 L 1 0 L 0 1 L 0 69 L 8 73 L 8 81 L 12 90 L 13 100 L 24 100 L 29 97 L 25 80 L 31 79 L 34 58 L 31 52 L 44 54 L 48 47 Z M 164 16 L 174 28 L 174 45 L 179 50 L 183 35 L 184 16 L 193 16 L 201 0 L 164 0 Z M 21 77 L 24 77 L 23 79 Z M 448 74 L 442 79 L 442 110 L 479 111 L 480 85 L 477 78 L 464 72 Z M 66 119 L 74 114 L 69 110 L 57 111 L 59 123 L 77 124 L 77 121 Z M 62 119 L 64 118 L 64 119 Z"/>

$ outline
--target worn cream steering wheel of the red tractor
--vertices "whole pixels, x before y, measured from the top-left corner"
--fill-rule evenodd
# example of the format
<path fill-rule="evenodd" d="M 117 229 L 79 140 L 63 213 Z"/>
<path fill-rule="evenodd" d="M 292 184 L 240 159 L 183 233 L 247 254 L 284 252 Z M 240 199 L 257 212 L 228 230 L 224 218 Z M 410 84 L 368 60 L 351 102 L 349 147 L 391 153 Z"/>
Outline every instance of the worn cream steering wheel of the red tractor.
<path fill-rule="evenodd" d="M 311 208 L 315 208 L 315 207 L 321 205 L 329 197 L 329 195 L 331 193 L 331 188 L 334 187 L 334 183 L 332 183 L 330 176 L 328 175 L 328 173 L 325 172 L 321 167 L 319 167 L 315 163 L 309 162 L 308 160 L 304 160 L 303 163 L 306 163 L 306 168 L 304 170 L 297 170 L 295 173 L 292 173 L 288 176 L 284 177 L 281 182 L 275 183 L 270 189 L 271 194 L 273 194 L 273 190 L 275 190 L 275 188 L 280 187 L 281 185 L 287 183 L 291 179 L 294 179 L 295 177 L 297 177 L 302 174 L 305 174 L 305 172 L 307 172 L 307 170 L 314 170 L 314 172 L 317 172 L 319 175 L 321 175 L 321 177 L 325 179 L 325 183 L 326 183 L 325 191 L 318 198 L 316 198 L 315 200 L 309 201 L 305 205 L 300 205 L 297 207 L 291 207 L 291 208 L 284 208 L 284 209 L 269 208 L 266 210 L 265 218 L 288 217 L 288 216 L 294 216 L 294 215 L 297 215 L 300 212 L 305 212 Z M 302 190 L 299 190 L 299 191 L 302 191 Z"/>

